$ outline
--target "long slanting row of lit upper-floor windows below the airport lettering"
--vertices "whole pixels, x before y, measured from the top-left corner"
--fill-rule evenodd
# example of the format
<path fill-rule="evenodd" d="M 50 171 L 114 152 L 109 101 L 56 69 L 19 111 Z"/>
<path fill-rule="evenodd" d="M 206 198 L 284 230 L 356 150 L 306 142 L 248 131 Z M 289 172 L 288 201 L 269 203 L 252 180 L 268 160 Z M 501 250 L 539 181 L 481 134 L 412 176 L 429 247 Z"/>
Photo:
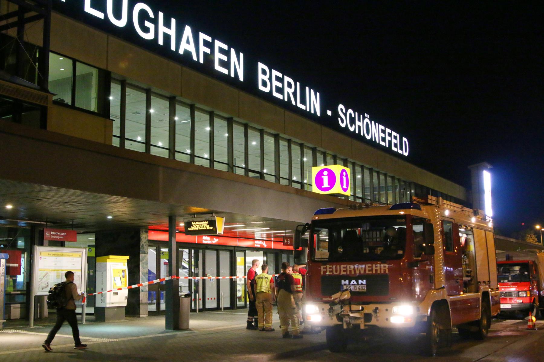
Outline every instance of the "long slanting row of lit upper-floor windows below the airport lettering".
<path fill-rule="evenodd" d="M 79 66 L 79 62 L 75 63 L 82 72 L 85 69 L 88 71 L 82 74 L 100 78 L 100 72 L 96 73 L 84 65 Z M 57 91 L 58 94 L 64 94 L 60 88 Z M 108 94 L 108 113 L 114 121 L 113 144 L 116 146 L 121 146 L 124 138 L 124 147 L 127 149 L 166 158 L 174 157 L 178 161 L 310 191 L 312 167 L 340 164 L 350 169 L 349 199 L 353 201 L 392 204 L 410 201 L 412 196 L 424 196 L 425 192 L 429 192 L 441 195 L 448 201 L 461 203 L 451 196 L 367 168 L 354 160 L 319 150 L 311 144 L 299 143 L 285 135 L 273 134 L 255 125 L 218 116 L 215 112 L 199 109 L 125 81 L 112 79 Z M 69 97 L 66 95 L 66 98 Z M 91 101 L 89 104 L 95 103 Z M 100 104 L 100 101 L 96 104 Z M 171 129 L 175 130 L 173 145 L 169 137 Z"/>

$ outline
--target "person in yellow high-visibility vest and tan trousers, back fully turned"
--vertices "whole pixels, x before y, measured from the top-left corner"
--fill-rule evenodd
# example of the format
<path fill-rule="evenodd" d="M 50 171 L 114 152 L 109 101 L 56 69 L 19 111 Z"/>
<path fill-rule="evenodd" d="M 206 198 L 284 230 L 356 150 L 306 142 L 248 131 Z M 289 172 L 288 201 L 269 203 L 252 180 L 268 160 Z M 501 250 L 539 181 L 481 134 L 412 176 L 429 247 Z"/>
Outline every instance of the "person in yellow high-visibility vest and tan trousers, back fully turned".
<path fill-rule="evenodd" d="M 261 266 L 263 271 L 255 277 L 255 292 L 259 331 L 274 332 L 272 328 L 272 303 L 275 300 L 274 278 L 268 275 L 268 265 Z"/>

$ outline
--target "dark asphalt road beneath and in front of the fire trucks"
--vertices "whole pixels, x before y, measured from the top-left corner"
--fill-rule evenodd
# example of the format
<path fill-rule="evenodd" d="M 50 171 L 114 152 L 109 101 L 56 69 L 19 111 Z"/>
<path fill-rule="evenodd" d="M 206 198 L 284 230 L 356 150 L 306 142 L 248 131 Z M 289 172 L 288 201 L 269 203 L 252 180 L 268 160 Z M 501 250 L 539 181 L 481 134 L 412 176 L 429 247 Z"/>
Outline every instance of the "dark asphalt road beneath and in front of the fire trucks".
<path fill-rule="evenodd" d="M 544 361 L 544 321 L 538 321 L 537 328 L 538 331 L 528 331 L 527 321 L 523 320 L 493 320 L 484 341 L 461 340 L 454 333 L 452 347 L 441 350 L 434 358 L 422 357 L 417 340 L 406 338 L 360 342 L 350 344 L 345 353 L 315 351 L 281 361 L 541 362 Z"/>

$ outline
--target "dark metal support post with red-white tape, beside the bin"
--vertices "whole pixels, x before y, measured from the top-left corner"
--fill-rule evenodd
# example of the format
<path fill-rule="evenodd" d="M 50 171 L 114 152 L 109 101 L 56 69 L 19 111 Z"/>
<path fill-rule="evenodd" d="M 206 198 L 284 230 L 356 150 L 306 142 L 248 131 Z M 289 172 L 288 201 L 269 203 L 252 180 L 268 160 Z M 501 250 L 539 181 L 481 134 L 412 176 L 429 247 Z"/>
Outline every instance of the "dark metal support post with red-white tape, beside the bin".
<path fill-rule="evenodd" d="M 176 216 L 168 217 L 168 275 L 177 275 Z M 180 282 L 178 279 L 166 281 L 166 329 L 180 329 Z"/>

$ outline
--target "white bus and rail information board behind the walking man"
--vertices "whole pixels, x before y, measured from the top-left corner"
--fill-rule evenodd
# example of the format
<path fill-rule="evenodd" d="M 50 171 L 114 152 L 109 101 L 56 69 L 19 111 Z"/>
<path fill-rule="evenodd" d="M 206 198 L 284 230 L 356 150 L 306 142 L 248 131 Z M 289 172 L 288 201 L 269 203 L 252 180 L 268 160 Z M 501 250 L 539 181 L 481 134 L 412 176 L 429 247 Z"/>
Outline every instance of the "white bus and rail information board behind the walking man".
<path fill-rule="evenodd" d="M 53 285 L 64 282 L 66 271 L 73 271 L 78 293 L 86 285 L 86 248 L 34 246 L 33 289 L 34 295 L 48 295 Z"/>

